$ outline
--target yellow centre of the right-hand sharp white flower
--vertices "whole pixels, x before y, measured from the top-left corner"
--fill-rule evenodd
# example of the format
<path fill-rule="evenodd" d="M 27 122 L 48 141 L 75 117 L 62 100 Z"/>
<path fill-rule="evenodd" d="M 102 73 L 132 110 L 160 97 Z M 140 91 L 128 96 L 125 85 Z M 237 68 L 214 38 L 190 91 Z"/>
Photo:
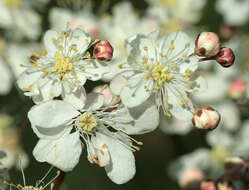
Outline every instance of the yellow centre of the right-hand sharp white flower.
<path fill-rule="evenodd" d="M 157 62 L 151 70 L 152 79 L 156 85 L 154 90 L 158 91 L 166 81 L 170 81 L 174 75 L 169 72 L 168 68 Z"/>

